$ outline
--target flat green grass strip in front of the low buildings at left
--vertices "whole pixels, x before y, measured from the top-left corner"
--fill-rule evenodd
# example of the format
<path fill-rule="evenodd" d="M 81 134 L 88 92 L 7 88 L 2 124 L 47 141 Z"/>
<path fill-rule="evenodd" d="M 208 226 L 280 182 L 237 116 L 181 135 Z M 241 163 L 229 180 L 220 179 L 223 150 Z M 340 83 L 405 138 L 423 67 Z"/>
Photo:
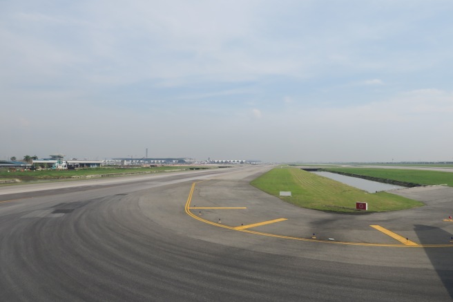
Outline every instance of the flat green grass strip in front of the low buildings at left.
<path fill-rule="evenodd" d="M 35 170 L 35 171 L 10 171 L 7 169 L 0 170 L 0 180 L 17 179 L 26 182 L 42 180 L 73 180 L 85 178 L 100 178 L 105 176 L 124 176 L 134 174 L 157 173 L 173 170 L 188 170 L 187 166 L 162 166 L 150 168 L 87 168 L 77 170 Z"/>

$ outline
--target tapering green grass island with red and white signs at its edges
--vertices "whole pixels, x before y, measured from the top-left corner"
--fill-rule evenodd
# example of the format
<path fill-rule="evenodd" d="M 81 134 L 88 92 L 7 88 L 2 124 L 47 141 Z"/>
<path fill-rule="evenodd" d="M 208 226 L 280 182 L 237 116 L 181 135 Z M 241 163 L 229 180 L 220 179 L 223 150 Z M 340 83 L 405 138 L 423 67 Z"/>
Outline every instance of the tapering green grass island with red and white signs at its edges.
<path fill-rule="evenodd" d="M 299 207 L 322 211 L 356 213 L 356 202 L 368 202 L 367 212 L 397 211 L 423 205 L 422 202 L 387 192 L 369 194 L 341 182 L 294 168 L 272 169 L 253 180 L 251 185 L 278 197 L 280 191 L 291 191 L 291 197 L 280 198 Z"/>

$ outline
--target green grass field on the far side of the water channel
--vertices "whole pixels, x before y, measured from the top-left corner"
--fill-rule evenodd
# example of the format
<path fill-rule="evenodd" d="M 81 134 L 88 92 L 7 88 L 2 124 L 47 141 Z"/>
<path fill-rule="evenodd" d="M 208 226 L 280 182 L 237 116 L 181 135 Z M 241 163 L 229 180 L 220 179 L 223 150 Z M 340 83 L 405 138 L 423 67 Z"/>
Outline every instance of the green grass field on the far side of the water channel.
<path fill-rule="evenodd" d="M 363 176 L 414 182 L 420 185 L 448 185 L 453 187 L 453 172 L 425 171 L 409 169 L 378 168 L 325 168 L 326 171 L 339 171 Z"/>

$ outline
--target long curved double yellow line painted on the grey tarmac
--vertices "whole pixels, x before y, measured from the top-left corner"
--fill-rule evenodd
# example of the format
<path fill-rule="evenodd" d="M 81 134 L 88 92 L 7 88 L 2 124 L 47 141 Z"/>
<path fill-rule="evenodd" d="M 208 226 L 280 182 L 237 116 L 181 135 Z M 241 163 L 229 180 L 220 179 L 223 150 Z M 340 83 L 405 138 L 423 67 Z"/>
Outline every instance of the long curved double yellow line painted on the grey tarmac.
<path fill-rule="evenodd" d="M 200 182 L 205 182 L 208 180 L 202 180 Z M 189 191 L 189 196 L 186 201 L 186 205 L 184 207 L 186 214 L 191 216 L 192 218 L 201 221 L 202 223 L 207 223 L 209 225 L 214 225 L 216 227 L 223 227 L 224 229 L 231 229 L 233 231 L 237 232 L 244 232 L 244 233 L 249 233 L 249 234 L 256 234 L 260 236 L 268 236 L 268 237 L 274 237 L 274 238 L 284 238 L 284 239 L 291 239 L 291 240 L 300 240 L 300 241 L 311 241 L 311 242 L 316 242 L 316 243 L 330 243 L 330 244 L 336 244 L 336 245 L 360 245 L 360 246 L 367 246 L 367 247 L 453 247 L 453 245 L 450 244 L 445 244 L 445 245 L 392 245 L 392 244 L 385 244 L 385 243 L 351 243 L 351 242 L 344 242 L 344 241 L 331 241 L 331 240 L 319 240 L 319 239 L 311 239 L 311 238 L 301 238 L 301 237 L 293 237 L 293 236 L 282 236 L 282 235 L 277 235 L 277 234 L 269 234 L 269 233 L 262 233 L 262 232 L 256 232 L 252 231 L 250 229 L 235 229 L 235 227 L 229 227 L 228 225 L 222 225 L 220 223 L 213 223 L 212 221 L 203 219 L 199 216 L 196 216 L 190 211 L 190 205 L 192 201 L 192 196 L 193 196 L 193 191 L 195 190 L 195 185 L 199 182 L 193 182 L 191 191 Z"/>

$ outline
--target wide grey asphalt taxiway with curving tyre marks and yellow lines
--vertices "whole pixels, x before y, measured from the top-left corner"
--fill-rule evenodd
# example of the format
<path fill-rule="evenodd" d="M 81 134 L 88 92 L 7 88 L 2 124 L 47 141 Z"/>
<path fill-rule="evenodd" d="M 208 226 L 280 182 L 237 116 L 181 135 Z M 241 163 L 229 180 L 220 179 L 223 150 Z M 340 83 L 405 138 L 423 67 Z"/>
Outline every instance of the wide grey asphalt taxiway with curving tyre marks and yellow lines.
<path fill-rule="evenodd" d="M 0 187 L 2 300 L 452 300 L 452 188 L 397 192 L 418 209 L 329 214 L 248 185 L 267 169 Z"/>

